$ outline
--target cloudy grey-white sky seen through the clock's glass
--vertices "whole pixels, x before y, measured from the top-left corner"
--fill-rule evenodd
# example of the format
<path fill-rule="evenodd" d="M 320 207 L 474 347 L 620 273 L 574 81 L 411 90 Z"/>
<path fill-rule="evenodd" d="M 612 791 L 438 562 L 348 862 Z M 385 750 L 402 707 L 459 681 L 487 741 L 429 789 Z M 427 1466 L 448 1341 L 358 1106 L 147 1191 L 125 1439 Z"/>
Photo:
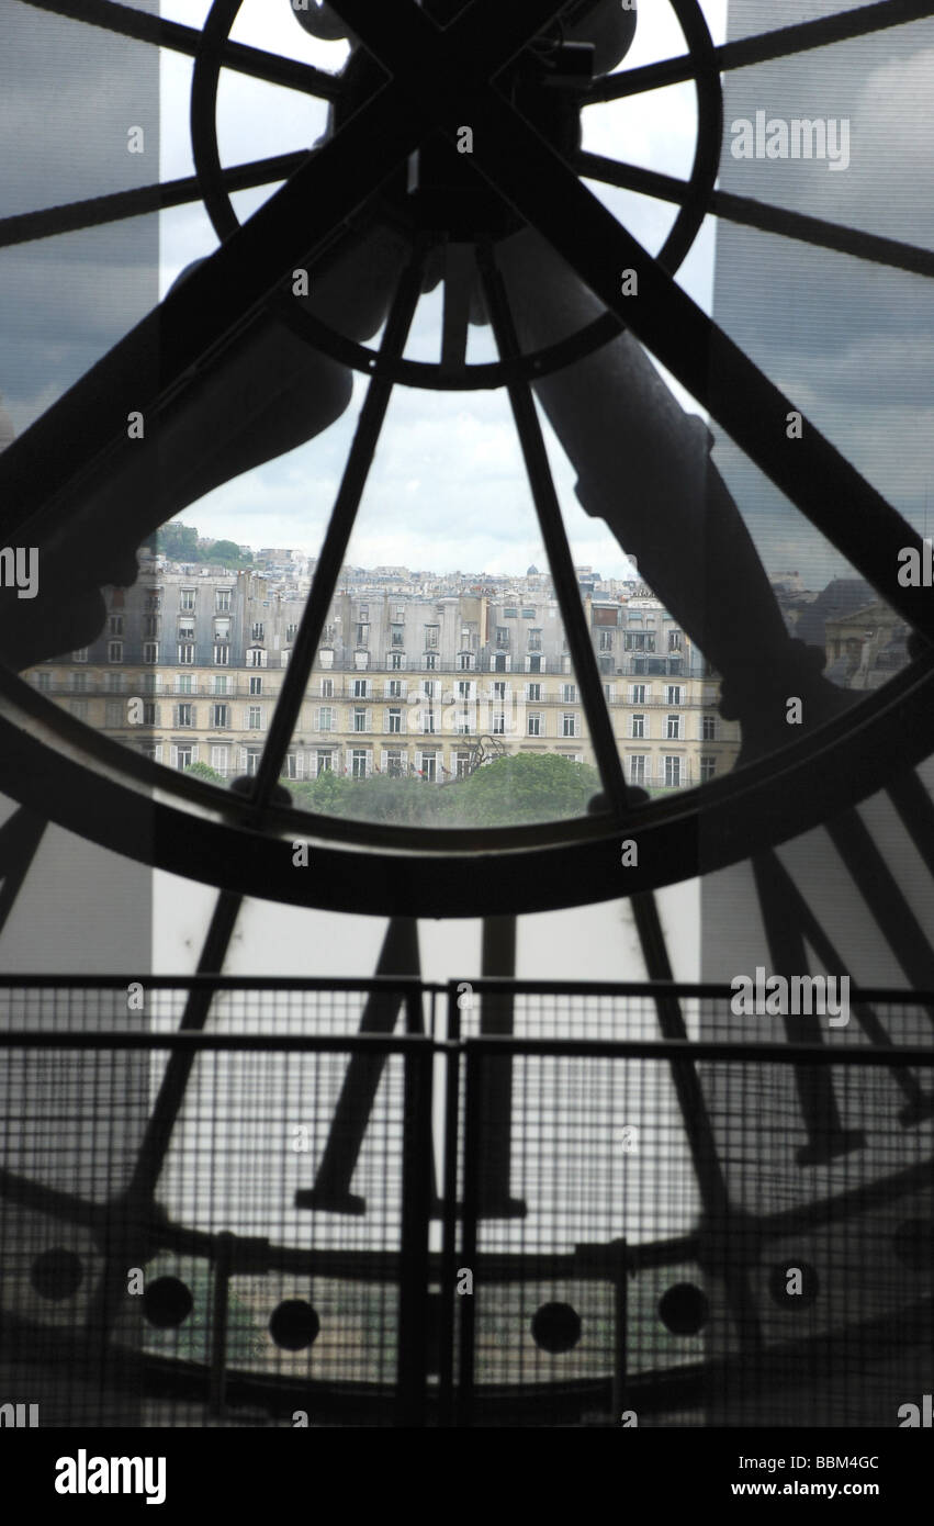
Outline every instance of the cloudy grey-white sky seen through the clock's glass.
<path fill-rule="evenodd" d="M 156 0 L 136 0 L 156 9 Z M 208 0 L 163 0 L 162 14 L 200 24 Z M 781 23 L 838 9 L 838 0 L 783 0 Z M 726 35 L 726 0 L 704 0 L 714 35 Z M 5 177 L 3 212 L 72 200 L 156 179 L 153 136 L 163 179 L 191 174 L 188 96 L 191 61 L 111 41 L 96 29 L 5 0 L 0 128 L 17 142 Z M 733 0 L 729 35 L 775 24 L 775 8 Z M 288 0 L 244 0 L 234 37 L 337 69 L 343 44 L 320 44 L 291 15 Z M 67 49 L 69 69 L 61 69 Z M 668 0 L 643 0 L 626 66 L 681 53 Z M 833 58 L 830 56 L 833 53 Z M 934 23 L 882 38 L 820 50 L 794 64 L 728 78 L 729 122 L 760 107 L 771 113 L 849 116 L 852 165 L 739 163 L 723 159 L 728 189 L 795 206 L 931 247 L 929 185 Z M 41 98 L 41 118 L 37 102 Z M 34 131 L 24 134 L 21 124 Z M 125 153 L 125 125 L 145 122 L 147 156 Z M 224 73 L 218 102 L 221 162 L 227 165 L 307 146 L 325 125 L 324 102 Z M 696 111 L 693 89 L 678 85 L 633 102 L 585 113 L 585 146 L 675 175 L 687 175 Z M 246 218 L 275 188 L 235 197 Z M 673 209 L 594 186 L 647 249 L 656 250 Z M 176 279 L 209 255 L 215 237 L 200 206 L 114 229 L 69 235 L 0 253 L 0 389 L 21 430 L 108 348 Z M 681 284 L 740 339 L 760 365 L 835 439 L 903 513 L 923 525 L 934 502 L 929 386 L 934 313 L 922 278 L 888 273 L 845 256 L 813 253 L 784 240 L 719 227 L 708 220 L 679 272 Z M 440 290 L 418 308 L 409 354 L 438 348 Z M 491 354 L 485 330 L 472 330 L 470 359 Z M 693 401 L 675 386 L 691 410 Z M 189 507 L 183 517 L 205 534 L 253 545 L 316 551 L 346 458 L 362 398 L 325 435 L 275 464 L 246 473 Z M 629 565 L 598 519 L 574 497 L 574 473 L 549 436 L 549 452 L 577 562 L 604 575 Z M 719 458 L 766 562 L 800 566 L 813 584 L 844 571 L 762 475 L 728 441 Z M 397 388 L 366 490 L 349 559 L 449 571 L 523 571 L 545 563 L 519 449 L 502 392 L 430 394 Z"/>

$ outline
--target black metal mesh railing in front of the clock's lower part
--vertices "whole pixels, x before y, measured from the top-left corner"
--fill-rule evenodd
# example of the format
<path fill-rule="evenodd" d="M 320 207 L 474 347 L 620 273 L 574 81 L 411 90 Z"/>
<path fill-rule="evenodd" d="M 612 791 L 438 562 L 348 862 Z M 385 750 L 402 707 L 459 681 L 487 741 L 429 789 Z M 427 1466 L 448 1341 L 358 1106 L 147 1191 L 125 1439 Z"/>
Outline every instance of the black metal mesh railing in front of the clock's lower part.
<path fill-rule="evenodd" d="M 0 990 L 0 1402 L 40 1424 L 891 1425 L 929 1392 L 922 998 L 791 1047 L 705 1039 L 700 987 L 664 992 L 682 1041 L 649 986 L 140 992 Z"/>

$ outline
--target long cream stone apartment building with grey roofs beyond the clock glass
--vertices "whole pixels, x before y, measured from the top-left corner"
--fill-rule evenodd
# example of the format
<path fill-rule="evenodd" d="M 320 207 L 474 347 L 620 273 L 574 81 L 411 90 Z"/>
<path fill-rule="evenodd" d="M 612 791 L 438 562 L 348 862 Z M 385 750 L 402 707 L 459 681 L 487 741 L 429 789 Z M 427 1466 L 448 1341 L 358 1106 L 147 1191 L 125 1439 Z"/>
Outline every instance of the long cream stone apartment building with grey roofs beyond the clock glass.
<path fill-rule="evenodd" d="M 287 552 L 282 552 L 287 555 Z M 534 569 L 530 569 L 530 572 Z M 84 650 L 29 681 L 75 717 L 174 769 L 253 774 L 307 600 L 287 568 L 143 562 L 131 589 L 105 589 L 107 624 Z M 348 580 L 349 581 L 349 580 Z M 549 580 L 514 591 L 418 594 L 366 584 L 336 594 L 284 774 L 418 775 L 444 783 L 490 751 L 594 763 L 580 687 Z M 739 726 L 719 684 L 647 589 L 581 600 L 626 778 L 685 789 L 726 772 Z"/>

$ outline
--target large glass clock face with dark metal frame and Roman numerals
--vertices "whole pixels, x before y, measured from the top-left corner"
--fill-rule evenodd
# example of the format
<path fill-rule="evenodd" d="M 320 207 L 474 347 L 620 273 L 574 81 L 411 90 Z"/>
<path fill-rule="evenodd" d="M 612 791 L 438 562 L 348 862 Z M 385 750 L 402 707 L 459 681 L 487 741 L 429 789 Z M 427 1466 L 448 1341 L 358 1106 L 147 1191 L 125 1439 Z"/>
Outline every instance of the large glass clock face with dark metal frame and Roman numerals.
<path fill-rule="evenodd" d="M 198 909 L 137 1006 L 119 955 L 3 992 L 56 1033 L 3 1054 L 14 1364 L 72 1352 L 56 1424 L 113 1424 L 95 1361 L 134 1424 L 897 1424 L 931 20 L 157 9 L 15 0 L 9 67 L 73 78 L 0 217 L 0 916 L 78 836 Z M 685 978 L 697 876 L 710 984 L 615 989 Z"/>

